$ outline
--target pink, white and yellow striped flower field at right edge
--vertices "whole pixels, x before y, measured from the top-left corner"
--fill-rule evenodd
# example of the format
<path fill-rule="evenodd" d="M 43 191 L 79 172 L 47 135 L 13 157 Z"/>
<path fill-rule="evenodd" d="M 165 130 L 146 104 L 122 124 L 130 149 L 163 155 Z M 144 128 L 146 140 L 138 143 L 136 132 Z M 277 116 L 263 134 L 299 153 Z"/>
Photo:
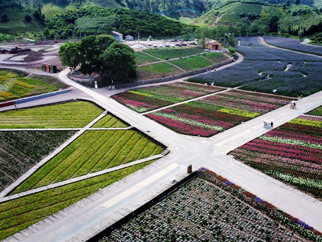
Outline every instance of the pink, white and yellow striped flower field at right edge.
<path fill-rule="evenodd" d="M 229 154 L 322 198 L 322 117 L 301 115 Z"/>

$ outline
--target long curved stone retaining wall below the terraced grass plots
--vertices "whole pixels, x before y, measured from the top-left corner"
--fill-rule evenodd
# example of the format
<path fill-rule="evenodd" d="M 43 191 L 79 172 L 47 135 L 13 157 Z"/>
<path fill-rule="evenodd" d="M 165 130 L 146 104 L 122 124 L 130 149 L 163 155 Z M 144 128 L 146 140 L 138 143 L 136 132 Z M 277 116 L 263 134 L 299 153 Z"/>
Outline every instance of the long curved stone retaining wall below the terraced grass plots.
<path fill-rule="evenodd" d="M 128 87 L 134 87 L 134 86 L 140 86 L 140 85 L 146 85 L 146 84 L 154 84 L 154 83 L 160 83 L 160 82 L 170 82 L 170 81 L 173 81 L 173 80 L 176 80 L 176 79 L 201 74 L 201 73 L 207 72 L 207 70 L 213 70 L 215 68 L 219 68 L 219 67 L 228 65 L 228 64 L 230 64 L 232 62 L 233 62 L 232 59 L 229 59 L 228 61 L 219 63 L 219 64 L 211 66 L 211 67 L 199 69 L 199 70 L 192 71 L 192 72 L 182 73 L 182 74 L 179 74 L 179 75 L 176 75 L 176 76 L 164 77 L 164 78 L 158 78 L 158 79 L 152 79 L 152 80 L 146 80 L 146 81 L 129 82 L 129 83 L 115 85 L 115 87 L 117 89 L 121 89 L 121 88 L 128 88 Z"/>

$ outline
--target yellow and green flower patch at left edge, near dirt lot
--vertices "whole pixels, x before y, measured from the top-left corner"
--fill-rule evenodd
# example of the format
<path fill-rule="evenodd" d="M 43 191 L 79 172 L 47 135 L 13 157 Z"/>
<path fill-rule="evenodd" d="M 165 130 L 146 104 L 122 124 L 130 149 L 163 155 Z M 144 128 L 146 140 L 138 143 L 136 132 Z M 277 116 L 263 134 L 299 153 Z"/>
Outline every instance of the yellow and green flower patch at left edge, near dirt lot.
<path fill-rule="evenodd" d="M 23 77 L 23 75 L 11 71 L 0 71 L 0 102 L 53 92 L 67 87 L 56 78 L 35 75 Z"/>

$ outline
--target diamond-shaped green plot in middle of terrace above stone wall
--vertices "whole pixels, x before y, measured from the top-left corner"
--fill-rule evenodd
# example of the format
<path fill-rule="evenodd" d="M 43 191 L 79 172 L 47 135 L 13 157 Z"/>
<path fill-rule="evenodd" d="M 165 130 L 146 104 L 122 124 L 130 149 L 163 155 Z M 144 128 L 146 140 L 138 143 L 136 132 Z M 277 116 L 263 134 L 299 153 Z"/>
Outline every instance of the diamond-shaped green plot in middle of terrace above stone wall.
<path fill-rule="evenodd" d="M 186 71 L 198 70 L 213 65 L 207 58 L 200 55 L 176 59 L 175 61 L 171 61 L 171 63 Z"/>

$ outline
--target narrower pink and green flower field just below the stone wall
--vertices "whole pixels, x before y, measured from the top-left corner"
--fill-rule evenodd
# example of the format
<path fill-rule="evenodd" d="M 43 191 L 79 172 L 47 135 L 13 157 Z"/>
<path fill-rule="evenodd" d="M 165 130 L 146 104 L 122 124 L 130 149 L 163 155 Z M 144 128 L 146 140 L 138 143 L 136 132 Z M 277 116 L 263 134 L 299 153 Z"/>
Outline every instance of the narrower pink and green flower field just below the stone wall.
<path fill-rule="evenodd" d="M 113 98 L 137 112 L 146 112 L 222 90 L 224 88 L 177 82 L 133 89 L 116 94 Z"/>

